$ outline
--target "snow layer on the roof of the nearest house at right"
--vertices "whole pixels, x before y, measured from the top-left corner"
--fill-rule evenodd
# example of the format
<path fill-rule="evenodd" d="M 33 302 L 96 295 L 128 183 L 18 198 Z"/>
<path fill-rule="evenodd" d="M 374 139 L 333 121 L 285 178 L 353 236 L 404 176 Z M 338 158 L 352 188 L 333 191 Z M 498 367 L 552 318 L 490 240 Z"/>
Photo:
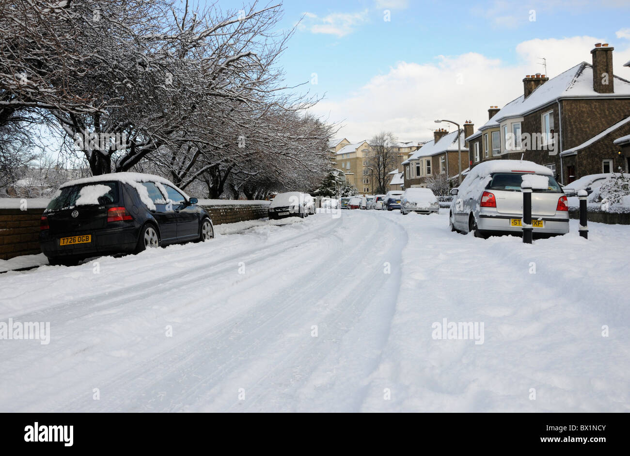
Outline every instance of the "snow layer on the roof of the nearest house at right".
<path fill-rule="evenodd" d="M 477 132 L 467 137 L 466 140 L 479 136 L 483 130 L 498 127 L 503 119 L 520 117 L 559 98 L 630 96 L 630 81 L 619 78 L 619 76 L 613 75 L 613 77 L 616 79 L 615 93 L 598 93 L 593 90 L 593 67 L 587 62 L 581 62 L 564 71 L 564 73 L 558 74 L 555 78 L 549 79 L 546 83 L 539 85 L 527 98 L 525 98 L 525 95 L 521 95 L 507 103 L 488 122 L 479 127 Z"/>

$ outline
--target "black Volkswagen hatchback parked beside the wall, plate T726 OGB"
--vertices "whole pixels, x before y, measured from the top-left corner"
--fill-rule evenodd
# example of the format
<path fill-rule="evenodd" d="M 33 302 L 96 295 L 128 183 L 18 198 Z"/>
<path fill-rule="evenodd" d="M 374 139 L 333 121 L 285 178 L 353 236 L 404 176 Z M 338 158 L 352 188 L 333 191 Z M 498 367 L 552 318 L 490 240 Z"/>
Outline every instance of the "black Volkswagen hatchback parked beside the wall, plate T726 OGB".
<path fill-rule="evenodd" d="M 50 264 L 214 238 L 208 212 L 168 180 L 113 173 L 66 182 L 42 215 Z"/>

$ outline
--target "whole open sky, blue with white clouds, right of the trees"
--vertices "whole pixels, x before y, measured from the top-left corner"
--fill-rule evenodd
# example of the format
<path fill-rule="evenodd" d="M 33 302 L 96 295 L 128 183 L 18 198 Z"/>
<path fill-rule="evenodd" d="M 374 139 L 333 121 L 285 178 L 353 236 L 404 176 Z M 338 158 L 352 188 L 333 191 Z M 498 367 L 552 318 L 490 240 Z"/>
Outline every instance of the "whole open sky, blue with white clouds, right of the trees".
<path fill-rule="evenodd" d="M 242 1 L 218 4 L 224 10 L 243 7 Z M 343 122 L 341 135 L 351 140 L 374 129 L 392 130 L 400 139 L 429 137 L 435 111 L 447 115 L 449 108 L 452 117 L 481 125 L 488 105 L 502 106 L 520 95 L 525 73 L 544 73 L 536 57 L 547 58 L 547 74 L 553 77 L 590 62 L 590 49 L 599 40 L 616 47 L 616 74 L 630 79 L 630 70 L 621 69 L 630 59 L 627 0 L 287 0 L 283 9 L 284 28 L 303 17 L 278 61 L 287 83 L 306 82 L 304 89 L 325 93 L 314 112 Z M 444 79 L 452 85 L 436 82 Z M 374 90 L 382 96 L 374 97 Z M 443 96 L 436 97 L 436 91 Z M 420 115 L 415 107 L 426 112 Z"/>

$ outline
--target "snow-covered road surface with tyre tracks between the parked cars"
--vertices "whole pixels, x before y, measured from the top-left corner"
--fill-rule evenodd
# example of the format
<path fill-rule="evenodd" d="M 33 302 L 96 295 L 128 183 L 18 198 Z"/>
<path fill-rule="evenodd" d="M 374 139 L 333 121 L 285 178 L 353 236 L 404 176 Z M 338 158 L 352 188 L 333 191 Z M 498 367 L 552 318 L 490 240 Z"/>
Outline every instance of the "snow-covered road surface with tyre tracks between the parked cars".
<path fill-rule="evenodd" d="M 628 411 L 630 227 L 524 245 L 441 212 L 1 274 L 0 322 L 50 341 L 0 340 L 0 411 Z"/>

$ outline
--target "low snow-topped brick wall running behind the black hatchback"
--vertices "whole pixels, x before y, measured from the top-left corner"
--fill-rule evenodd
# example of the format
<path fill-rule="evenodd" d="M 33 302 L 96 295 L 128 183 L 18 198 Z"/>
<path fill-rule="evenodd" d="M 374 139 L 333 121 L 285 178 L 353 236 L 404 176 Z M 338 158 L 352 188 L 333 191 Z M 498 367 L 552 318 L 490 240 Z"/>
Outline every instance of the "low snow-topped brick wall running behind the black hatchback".
<path fill-rule="evenodd" d="M 14 203 L 15 209 L 0 209 L 0 259 L 20 255 L 36 255 L 39 247 L 40 218 L 44 208 L 19 209 L 19 199 L 1 199 Z M 28 200 L 27 200 L 28 201 Z M 13 204 L 9 204 L 13 206 Z M 210 213 L 212 223 L 234 223 L 264 218 L 268 214 L 268 202 L 257 201 L 251 204 L 200 204 Z"/>

